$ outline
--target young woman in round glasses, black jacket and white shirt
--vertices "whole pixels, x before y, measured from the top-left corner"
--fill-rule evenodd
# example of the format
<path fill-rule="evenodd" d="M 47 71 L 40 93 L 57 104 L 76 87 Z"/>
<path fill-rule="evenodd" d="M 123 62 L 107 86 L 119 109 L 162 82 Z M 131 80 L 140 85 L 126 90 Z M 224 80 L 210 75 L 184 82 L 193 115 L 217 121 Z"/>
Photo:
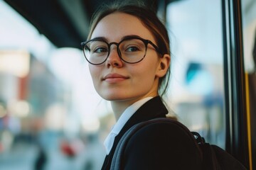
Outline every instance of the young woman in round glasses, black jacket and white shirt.
<path fill-rule="evenodd" d="M 97 11 L 88 41 L 82 45 L 95 89 L 111 101 L 117 120 L 105 140 L 102 169 L 110 169 L 124 132 L 137 123 L 166 118 L 168 111 L 159 95 L 169 81 L 169 37 L 153 11 L 115 4 Z M 123 169 L 198 169 L 200 162 L 194 155 L 184 164 L 183 155 L 174 153 L 176 141 L 167 129 L 149 125 L 139 130 L 128 142 Z M 172 152 L 174 159 L 169 157 Z"/>

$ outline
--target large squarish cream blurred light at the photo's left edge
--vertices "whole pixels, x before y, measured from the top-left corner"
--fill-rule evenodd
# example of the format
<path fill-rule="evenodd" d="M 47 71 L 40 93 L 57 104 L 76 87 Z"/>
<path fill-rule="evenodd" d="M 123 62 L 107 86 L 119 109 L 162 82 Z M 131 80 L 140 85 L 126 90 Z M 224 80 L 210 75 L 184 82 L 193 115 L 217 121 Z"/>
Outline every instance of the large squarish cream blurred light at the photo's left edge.
<path fill-rule="evenodd" d="M 26 77 L 29 72 L 30 55 L 25 50 L 1 50 L 0 72 Z"/>

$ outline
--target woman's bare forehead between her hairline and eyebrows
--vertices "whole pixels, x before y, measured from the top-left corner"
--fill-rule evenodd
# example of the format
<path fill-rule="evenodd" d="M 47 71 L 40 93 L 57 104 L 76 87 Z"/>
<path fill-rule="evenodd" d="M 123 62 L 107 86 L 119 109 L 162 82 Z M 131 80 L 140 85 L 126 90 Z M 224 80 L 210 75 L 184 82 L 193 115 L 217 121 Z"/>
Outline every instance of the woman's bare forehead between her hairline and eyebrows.
<path fill-rule="evenodd" d="M 144 39 L 154 41 L 154 36 L 142 21 L 127 13 L 112 13 L 97 23 L 92 32 L 92 38 L 104 37 L 109 41 L 118 42 L 126 35 L 139 35 Z"/>

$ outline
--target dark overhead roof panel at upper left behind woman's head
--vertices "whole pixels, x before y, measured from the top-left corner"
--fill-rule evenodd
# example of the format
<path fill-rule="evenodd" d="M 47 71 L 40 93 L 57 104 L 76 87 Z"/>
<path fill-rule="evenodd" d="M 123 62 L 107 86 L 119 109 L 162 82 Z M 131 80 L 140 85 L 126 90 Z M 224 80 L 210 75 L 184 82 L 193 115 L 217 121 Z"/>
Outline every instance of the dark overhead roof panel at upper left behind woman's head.
<path fill-rule="evenodd" d="M 26 18 L 39 33 L 45 35 L 56 47 L 77 48 L 80 48 L 80 42 L 87 38 L 92 13 L 101 4 L 112 2 L 107 0 L 4 1 Z M 156 11 L 161 0 L 139 1 L 144 1 L 146 6 Z"/>

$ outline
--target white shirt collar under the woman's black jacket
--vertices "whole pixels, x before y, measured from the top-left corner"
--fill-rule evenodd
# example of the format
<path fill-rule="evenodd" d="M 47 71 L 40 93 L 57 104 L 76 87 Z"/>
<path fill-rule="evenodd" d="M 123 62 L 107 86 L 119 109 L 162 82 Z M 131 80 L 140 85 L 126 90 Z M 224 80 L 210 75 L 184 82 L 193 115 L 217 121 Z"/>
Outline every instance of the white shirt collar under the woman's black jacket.
<path fill-rule="evenodd" d="M 119 134 L 119 132 L 124 127 L 125 123 L 127 123 L 129 118 L 131 118 L 132 115 L 151 98 L 153 97 L 142 98 L 142 100 L 133 103 L 131 106 L 125 109 L 124 113 L 122 113 L 120 118 L 117 120 L 117 123 L 113 126 L 110 134 L 107 135 L 107 138 L 105 139 L 104 145 L 107 154 L 110 154 L 110 150 L 112 149 L 112 146 L 114 144 L 114 137 L 116 137 Z"/>

